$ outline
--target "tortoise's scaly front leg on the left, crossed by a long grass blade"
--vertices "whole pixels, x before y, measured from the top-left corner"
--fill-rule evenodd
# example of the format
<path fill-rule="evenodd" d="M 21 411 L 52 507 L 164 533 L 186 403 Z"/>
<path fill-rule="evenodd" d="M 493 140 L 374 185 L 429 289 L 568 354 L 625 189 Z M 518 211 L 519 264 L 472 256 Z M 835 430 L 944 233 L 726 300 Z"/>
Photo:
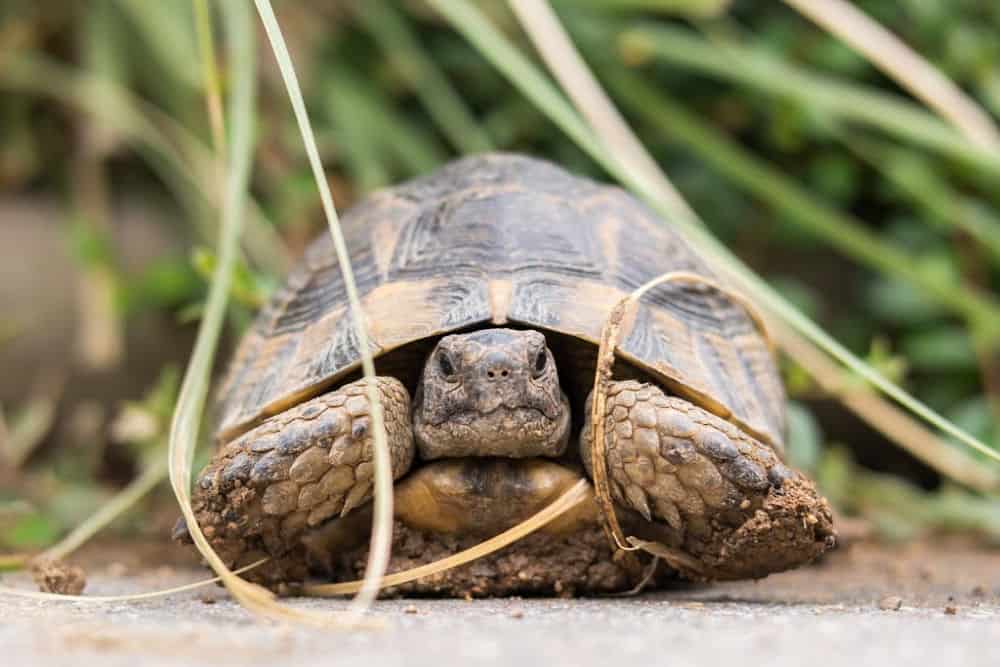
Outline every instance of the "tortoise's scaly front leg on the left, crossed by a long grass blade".
<path fill-rule="evenodd" d="M 395 378 L 376 381 L 398 479 L 413 462 L 410 397 Z M 270 556 L 246 576 L 269 584 L 306 577 L 303 535 L 372 495 L 370 415 L 359 380 L 271 417 L 216 453 L 198 478 L 192 504 L 229 567 Z"/>

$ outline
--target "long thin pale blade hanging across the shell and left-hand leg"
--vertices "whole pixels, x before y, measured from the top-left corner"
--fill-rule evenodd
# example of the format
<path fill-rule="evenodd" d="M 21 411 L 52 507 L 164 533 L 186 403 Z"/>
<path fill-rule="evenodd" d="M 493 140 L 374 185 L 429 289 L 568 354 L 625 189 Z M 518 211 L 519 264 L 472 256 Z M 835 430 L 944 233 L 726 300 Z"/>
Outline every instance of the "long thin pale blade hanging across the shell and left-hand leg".
<path fill-rule="evenodd" d="M 389 565 L 389 552 L 392 548 L 392 463 L 389 456 L 389 446 L 386 443 L 385 420 L 382 412 L 382 403 L 375 384 L 375 363 L 372 360 L 371 347 L 369 346 L 365 314 L 361 306 L 361 300 L 358 298 L 357 286 L 354 283 L 354 272 L 351 269 L 351 257 L 347 251 L 347 244 L 344 241 L 343 233 L 340 230 L 337 209 L 333 204 L 330 186 L 326 181 L 326 174 L 320 162 L 319 150 L 316 147 L 316 139 L 313 136 L 309 115 L 306 112 L 305 102 L 302 99 L 302 91 L 299 88 L 298 78 L 295 75 L 295 68 L 292 65 L 291 56 L 288 54 L 288 47 L 285 45 L 285 38 L 281 34 L 281 27 L 274 16 L 274 10 L 271 8 L 270 1 L 254 1 L 257 6 L 257 13 L 260 15 L 261 22 L 264 24 L 264 30 L 271 43 L 271 49 L 274 51 L 274 56 L 281 69 L 281 77 L 285 82 L 285 87 L 288 89 L 288 97 L 295 112 L 295 119 L 298 121 L 306 154 L 309 156 L 309 165 L 312 167 L 313 177 L 319 188 L 320 200 L 323 203 L 323 212 L 326 214 L 326 219 L 330 226 L 330 236 L 333 238 L 333 245 L 337 253 L 337 262 L 340 265 L 345 291 L 347 292 L 347 300 L 350 303 L 351 321 L 354 325 L 354 334 L 357 337 L 358 347 L 361 351 L 361 367 L 364 371 L 364 377 L 367 380 L 366 391 L 368 402 L 371 405 L 372 431 L 374 436 L 375 511 L 372 517 L 371 548 L 368 552 L 368 567 L 365 570 L 364 585 L 358 591 L 357 597 L 352 602 L 349 611 L 351 619 L 356 621 L 361 614 L 371 607 L 372 602 L 378 595 L 378 582 L 382 578 L 382 575 L 385 574 L 386 568 Z"/>

